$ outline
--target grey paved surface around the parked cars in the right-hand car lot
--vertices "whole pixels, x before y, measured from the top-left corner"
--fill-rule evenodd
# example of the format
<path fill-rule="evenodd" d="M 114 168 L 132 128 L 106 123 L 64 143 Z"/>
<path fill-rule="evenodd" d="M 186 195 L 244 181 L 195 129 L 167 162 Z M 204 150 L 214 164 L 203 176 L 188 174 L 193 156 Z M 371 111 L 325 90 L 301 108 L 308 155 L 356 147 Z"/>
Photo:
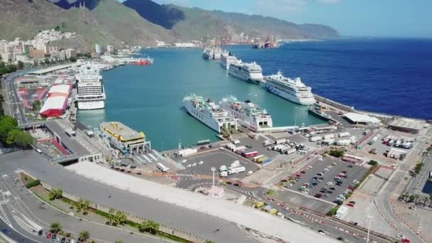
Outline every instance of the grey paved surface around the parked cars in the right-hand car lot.
<path fill-rule="evenodd" d="M 305 173 L 297 173 L 296 175 L 300 180 L 296 181 L 296 183 L 290 187 L 291 190 L 298 190 L 305 183 L 309 183 L 312 178 L 321 178 L 321 181 L 317 183 L 313 188 L 308 188 L 308 195 L 315 195 L 320 193 L 323 195 L 323 200 L 328 200 L 329 202 L 333 202 L 338 195 L 342 194 L 347 190 L 347 187 L 350 186 L 353 180 L 360 180 L 362 176 L 367 172 L 367 168 L 362 166 L 350 165 L 349 163 L 345 163 L 343 161 L 334 161 L 329 158 L 324 158 L 323 161 L 315 161 L 313 163 L 312 168 L 307 168 L 304 170 Z M 352 166 L 350 168 L 349 166 Z M 328 169 L 328 171 L 326 171 Z M 342 185 L 335 185 L 335 176 L 340 174 L 341 171 L 346 171 L 347 178 L 342 178 Z M 317 175 L 317 173 L 323 172 L 324 175 Z M 295 176 L 296 176 L 295 175 Z M 326 185 L 326 183 L 333 183 L 333 185 Z M 323 188 L 327 193 L 321 192 Z M 334 188 L 331 190 L 330 188 Z M 327 196 L 326 196 L 327 195 Z"/>

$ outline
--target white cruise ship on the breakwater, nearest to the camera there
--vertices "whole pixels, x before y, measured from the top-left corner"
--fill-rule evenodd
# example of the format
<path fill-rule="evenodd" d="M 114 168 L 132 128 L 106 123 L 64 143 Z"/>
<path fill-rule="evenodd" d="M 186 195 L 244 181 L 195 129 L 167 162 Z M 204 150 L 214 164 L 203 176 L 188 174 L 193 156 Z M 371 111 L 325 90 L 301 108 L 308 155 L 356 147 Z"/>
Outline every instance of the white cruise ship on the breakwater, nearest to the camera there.
<path fill-rule="evenodd" d="M 279 71 L 276 75 L 264 77 L 266 88 L 280 97 L 288 99 L 297 104 L 311 105 L 315 103 L 315 97 L 311 92 L 311 87 L 308 87 L 301 82 L 300 77 L 292 80 L 289 77 L 284 77 Z"/>

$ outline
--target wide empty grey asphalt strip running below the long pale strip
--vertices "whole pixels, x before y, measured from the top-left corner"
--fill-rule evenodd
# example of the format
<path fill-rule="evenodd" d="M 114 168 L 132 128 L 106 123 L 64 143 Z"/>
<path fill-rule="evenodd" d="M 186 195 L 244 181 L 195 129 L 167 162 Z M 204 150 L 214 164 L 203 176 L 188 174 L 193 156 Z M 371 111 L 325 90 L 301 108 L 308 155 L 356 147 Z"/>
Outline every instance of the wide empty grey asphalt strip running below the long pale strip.
<path fill-rule="evenodd" d="M 62 166 L 47 163 L 35 151 L 9 153 L 1 158 L 0 171 L 3 173 L 12 175 L 14 171 L 21 168 L 68 193 L 190 232 L 205 239 L 212 239 L 215 242 L 239 242 L 244 239 L 247 239 L 248 242 L 258 242 L 232 222 L 97 183 L 67 171 Z M 110 195 L 111 198 L 108 198 Z M 216 229 L 219 231 L 215 232 Z"/>

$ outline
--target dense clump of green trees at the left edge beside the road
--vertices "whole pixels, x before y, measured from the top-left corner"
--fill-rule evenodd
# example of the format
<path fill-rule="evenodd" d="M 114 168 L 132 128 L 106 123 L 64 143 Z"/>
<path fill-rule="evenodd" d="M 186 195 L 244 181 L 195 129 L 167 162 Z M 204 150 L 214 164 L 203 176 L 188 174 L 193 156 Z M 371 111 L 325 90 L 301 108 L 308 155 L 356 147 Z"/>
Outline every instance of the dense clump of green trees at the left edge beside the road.
<path fill-rule="evenodd" d="M 9 146 L 27 148 L 33 144 L 33 136 L 18 129 L 15 118 L 6 115 L 0 116 L 0 141 Z"/>

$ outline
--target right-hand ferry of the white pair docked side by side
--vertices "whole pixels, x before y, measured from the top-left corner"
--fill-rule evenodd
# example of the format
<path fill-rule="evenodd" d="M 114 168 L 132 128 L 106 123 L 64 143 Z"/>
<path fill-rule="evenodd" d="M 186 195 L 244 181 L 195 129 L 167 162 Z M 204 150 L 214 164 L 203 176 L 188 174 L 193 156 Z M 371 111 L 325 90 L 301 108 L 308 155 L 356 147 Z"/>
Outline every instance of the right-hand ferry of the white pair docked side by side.
<path fill-rule="evenodd" d="M 227 110 L 232 117 L 237 119 L 237 123 L 252 131 L 260 128 L 273 127 L 270 114 L 265 109 L 261 109 L 257 104 L 250 102 L 239 102 L 236 97 L 229 96 L 220 102 L 222 109 Z"/>

